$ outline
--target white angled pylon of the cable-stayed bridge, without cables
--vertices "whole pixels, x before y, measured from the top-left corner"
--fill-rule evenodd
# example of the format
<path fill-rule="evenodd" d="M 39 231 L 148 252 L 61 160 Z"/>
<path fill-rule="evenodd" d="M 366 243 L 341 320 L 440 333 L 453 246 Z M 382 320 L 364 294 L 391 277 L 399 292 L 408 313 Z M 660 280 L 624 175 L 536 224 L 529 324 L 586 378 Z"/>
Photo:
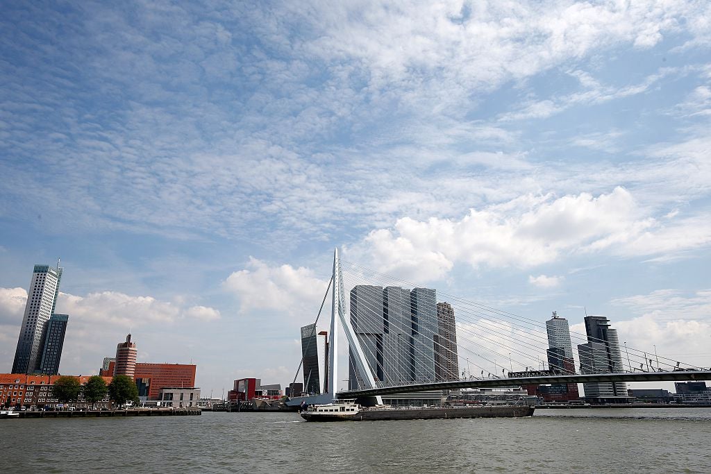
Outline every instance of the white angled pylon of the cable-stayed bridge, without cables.
<path fill-rule="evenodd" d="M 343 291 L 343 278 L 341 276 L 341 261 L 338 259 L 338 248 L 333 250 L 333 298 L 331 300 L 331 344 L 328 346 L 328 394 L 336 398 L 338 391 L 338 323 L 343 325 L 348 347 L 353 354 L 353 364 L 368 389 L 377 388 L 373 371 L 370 370 L 368 359 L 365 357 L 363 347 L 355 335 L 351 320 L 346 313 L 345 293 Z M 378 395 L 377 403 L 383 404 L 383 399 Z"/>

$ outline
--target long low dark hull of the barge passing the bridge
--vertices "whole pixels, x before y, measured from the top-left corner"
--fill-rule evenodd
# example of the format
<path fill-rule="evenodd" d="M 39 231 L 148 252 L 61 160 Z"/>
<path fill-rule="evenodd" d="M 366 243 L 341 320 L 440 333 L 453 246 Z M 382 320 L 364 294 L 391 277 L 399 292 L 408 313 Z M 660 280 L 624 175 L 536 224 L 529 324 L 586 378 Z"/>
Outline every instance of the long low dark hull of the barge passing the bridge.
<path fill-rule="evenodd" d="M 363 409 L 355 414 L 321 414 L 301 411 L 306 421 L 378 421 L 449 418 L 519 418 L 533 416 L 533 406 L 463 406 L 411 409 Z"/>

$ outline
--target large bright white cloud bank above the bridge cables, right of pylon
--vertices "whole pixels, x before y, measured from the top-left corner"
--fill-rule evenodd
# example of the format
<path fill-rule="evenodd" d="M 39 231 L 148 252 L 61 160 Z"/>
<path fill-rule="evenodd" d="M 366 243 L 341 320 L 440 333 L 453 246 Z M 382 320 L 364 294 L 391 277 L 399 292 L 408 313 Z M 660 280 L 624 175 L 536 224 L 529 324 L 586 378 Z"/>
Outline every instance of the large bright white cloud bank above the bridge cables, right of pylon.
<path fill-rule="evenodd" d="M 461 220 L 403 217 L 345 249 L 356 261 L 414 281 L 441 279 L 457 262 L 529 267 L 566 254 L 653 255 L 702 247 L 711 227 L 698 219 L 659 222 L 624 188 L 588 193 L 524 195 L 472 209 Z"/>

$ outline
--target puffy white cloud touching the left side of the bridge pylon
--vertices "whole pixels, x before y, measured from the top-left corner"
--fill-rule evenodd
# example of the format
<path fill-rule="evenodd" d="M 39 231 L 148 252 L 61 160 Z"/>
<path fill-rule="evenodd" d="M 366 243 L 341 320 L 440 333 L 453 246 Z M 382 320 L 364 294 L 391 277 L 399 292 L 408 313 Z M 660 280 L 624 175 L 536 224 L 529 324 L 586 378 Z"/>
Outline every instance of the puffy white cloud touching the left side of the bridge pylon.
<path fill-rule="evenodd" d="M 328 281 L 314 276 L 311 269 L 269 266 L 254 257 L 250 257 L 246 269 L 233 272 L 223 283 L 240 299 L 240 313 L 274 309 L 292 315 L 314 311 L 327 285 Z"/>

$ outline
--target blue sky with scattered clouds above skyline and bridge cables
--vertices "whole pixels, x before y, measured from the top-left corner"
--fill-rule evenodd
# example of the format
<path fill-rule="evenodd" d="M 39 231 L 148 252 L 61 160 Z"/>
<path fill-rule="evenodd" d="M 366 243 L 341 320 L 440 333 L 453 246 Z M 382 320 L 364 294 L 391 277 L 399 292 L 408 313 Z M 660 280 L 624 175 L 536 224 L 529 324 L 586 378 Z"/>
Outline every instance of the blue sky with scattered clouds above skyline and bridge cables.
<path fill-rule="evenodd" d="M 205 396 L 288 384 L 335 247 L 711 366 L 709 2 L 3 10 L 0 372 L 61 257 L 60 372 L 130 331 Z"/>

